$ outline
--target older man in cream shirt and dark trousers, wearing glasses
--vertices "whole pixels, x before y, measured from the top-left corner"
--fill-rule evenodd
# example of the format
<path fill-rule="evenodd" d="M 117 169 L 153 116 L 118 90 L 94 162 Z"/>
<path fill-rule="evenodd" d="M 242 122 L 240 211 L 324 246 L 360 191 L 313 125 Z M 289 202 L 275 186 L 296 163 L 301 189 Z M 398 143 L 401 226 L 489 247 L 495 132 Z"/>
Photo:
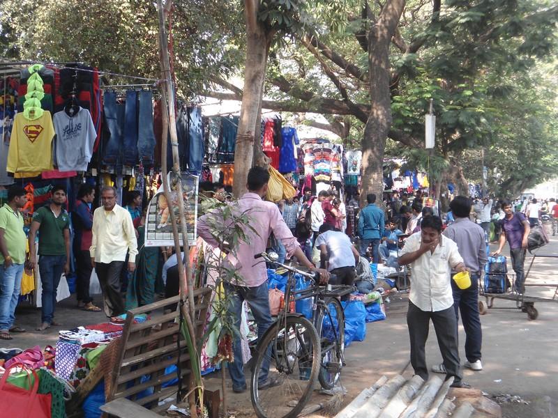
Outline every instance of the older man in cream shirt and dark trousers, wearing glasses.
<path fill-rule="evenodd" d="M 135 270 L 137 240 L 130 212 L 116 204 L 116 189 L 103 187 L 100 196 L 103 206 L 93 212 L 89 253 L 103 291 L 105 314 L 111 317 L 124 313 L 120 272 L 128 251 L 128 271 Z"/>

